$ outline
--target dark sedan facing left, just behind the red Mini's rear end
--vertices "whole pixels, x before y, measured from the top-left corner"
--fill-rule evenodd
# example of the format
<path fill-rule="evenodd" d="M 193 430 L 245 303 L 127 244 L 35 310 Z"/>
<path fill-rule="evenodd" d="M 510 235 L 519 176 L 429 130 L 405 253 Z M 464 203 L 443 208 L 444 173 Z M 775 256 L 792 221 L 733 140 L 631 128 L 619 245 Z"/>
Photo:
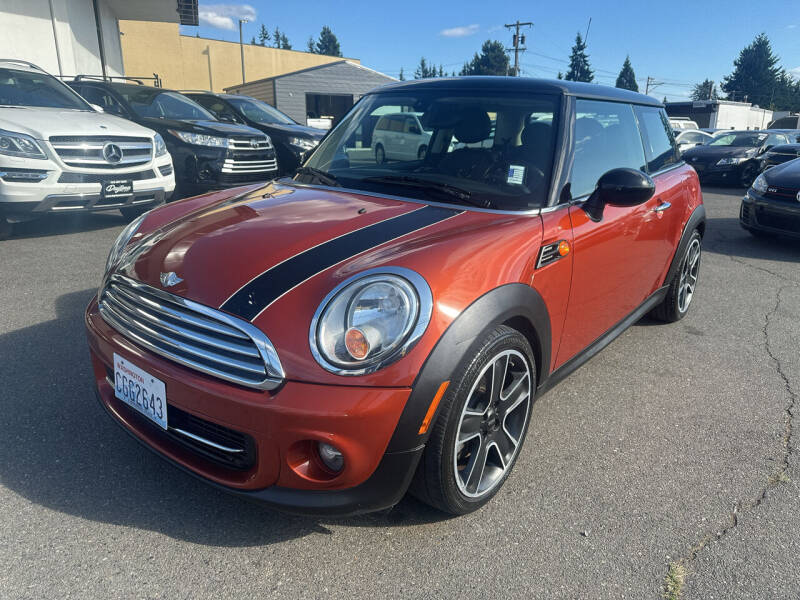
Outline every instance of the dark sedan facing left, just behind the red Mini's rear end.
<path fill-rule="evenodd" d="M 690 148 L 683 159 L 694 167 L 701 181 L 738 184 L 750 187 L 760 171 L 760 159 L 779 144 L 788 144 L 782 133 L 730 131 L 705 146 Z"/>

